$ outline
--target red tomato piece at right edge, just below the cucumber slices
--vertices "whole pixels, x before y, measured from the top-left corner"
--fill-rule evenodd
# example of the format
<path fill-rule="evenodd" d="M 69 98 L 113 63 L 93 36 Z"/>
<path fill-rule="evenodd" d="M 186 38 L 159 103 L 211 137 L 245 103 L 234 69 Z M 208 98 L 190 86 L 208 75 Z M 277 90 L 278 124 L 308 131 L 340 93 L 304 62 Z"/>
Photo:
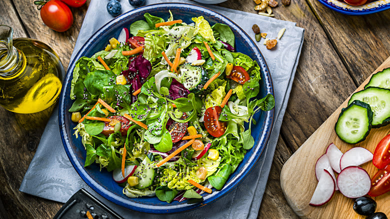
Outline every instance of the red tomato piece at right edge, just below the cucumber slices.
<path fill-rule="evenodd" d="M 378 169 L 383 169 L 390 164 L 390 134 L 381 139 L 375 147 L 372 163 Z"/>

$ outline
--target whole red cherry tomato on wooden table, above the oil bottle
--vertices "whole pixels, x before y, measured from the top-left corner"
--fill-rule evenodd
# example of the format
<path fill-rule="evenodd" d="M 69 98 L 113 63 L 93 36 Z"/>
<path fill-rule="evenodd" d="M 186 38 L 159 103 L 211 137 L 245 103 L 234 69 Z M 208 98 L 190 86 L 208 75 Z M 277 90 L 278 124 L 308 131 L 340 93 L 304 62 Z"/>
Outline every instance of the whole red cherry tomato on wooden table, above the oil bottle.
<path fill-rule="evenodd" d="M 47 1 L 40 8 L 40 17 L 44 24 L 58 32 L 68 30 L 73 23 L 73 14 L 69 7 L 59 0 Z"/>

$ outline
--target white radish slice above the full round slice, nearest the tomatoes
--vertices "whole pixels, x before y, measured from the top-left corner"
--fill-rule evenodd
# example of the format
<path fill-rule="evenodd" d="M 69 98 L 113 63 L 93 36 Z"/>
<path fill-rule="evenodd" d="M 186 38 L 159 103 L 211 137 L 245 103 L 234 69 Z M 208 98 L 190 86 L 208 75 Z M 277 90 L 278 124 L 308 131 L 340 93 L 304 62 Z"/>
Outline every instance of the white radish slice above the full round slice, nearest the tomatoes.
<path fill-rule="evenodd" d="M 372 160 L 373 154 L 363 147 L 353 147 L 342 154 L 340 159 L 340 169 L 347 166 L 359 166 Z"/>

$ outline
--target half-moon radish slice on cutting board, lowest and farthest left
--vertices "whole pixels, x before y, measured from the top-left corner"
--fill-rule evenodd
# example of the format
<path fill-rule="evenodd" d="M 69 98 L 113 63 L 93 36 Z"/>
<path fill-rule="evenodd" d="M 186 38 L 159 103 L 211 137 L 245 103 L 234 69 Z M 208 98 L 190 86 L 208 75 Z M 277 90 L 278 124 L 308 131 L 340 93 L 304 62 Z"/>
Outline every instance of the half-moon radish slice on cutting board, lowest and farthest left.
<path fill-rule="evenodd" d="M 311 206 L 320 206 L 330 200 L 335 191 L 336 183 L 333 180 L 333 177 L 324 169 L 319 177 L 317 187 L 315 187 L 313 196 L 311 196 L 310 205 Z"/>

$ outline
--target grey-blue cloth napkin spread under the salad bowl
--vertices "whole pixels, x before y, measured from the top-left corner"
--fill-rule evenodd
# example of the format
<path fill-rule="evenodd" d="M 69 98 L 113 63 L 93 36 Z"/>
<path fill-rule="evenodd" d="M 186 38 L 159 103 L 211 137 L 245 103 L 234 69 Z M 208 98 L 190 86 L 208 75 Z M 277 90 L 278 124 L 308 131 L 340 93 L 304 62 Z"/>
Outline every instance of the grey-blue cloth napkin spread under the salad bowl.
<path fill-rule="evenodd" d="M 157 2 L 168 2 L 168 0 L 147 1 L 148 4 Z M 194 3 L 188 0 L 180 2 Z M 93 32 L 112 19 L 112 16 L 105 9 L 106 3 L 105 0 L 90 1 L 71 59 Z M 121 4 L 123 12 L 132 9 L 127 0 L 122 0 Z M 210 5 L 207 7 L 235 21 L 253 40 L 254 33 L 251 26 L 255 23 L 259 24 L 262 32 L 268 33 L 268 38 L 275 38 L 280 29 L 286 28 L 283 37 L 278 40 L 277 47 L 273 50 L 265 48 L 264 39 L 257 42 L 257 46 L 266 59 L 274 84 L 275 120 L 264 152 L 248 176 L 238 186 L 227 195 L 206 206 L 182 213 L 156 215 L 135 212 L 118 206 L 94 192 L 74 170 L 61 143 L 57 109 L 54 109 L 19 190 L 39 197 L 65 202 L 82 187 L 125 218 L 256 218 L 303 43 L 303 29 L 296 27 L 295 23 L 289 21 L 223 7 Z"/>

